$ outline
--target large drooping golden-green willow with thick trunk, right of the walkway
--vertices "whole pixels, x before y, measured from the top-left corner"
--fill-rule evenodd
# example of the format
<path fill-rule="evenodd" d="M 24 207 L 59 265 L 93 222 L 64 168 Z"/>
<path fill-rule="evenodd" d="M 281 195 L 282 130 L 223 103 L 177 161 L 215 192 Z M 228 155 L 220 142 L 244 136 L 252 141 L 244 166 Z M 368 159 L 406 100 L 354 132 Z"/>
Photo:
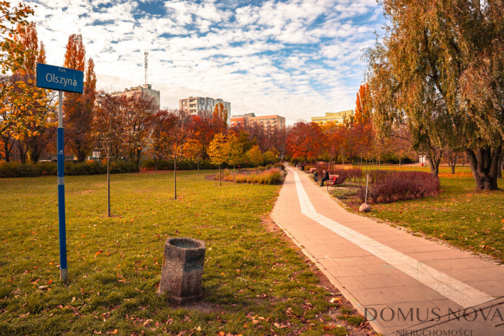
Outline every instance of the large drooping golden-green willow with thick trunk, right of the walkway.
<path fill-rule="evenodd" d="M 381 3 L 387 33 L 366 52 L 379 133 L 404 122 L 415 149 L 430 161 L 432 149 L 462 145 L 476 186 L 497 189 L 504 141 L 502 1 Z"/>

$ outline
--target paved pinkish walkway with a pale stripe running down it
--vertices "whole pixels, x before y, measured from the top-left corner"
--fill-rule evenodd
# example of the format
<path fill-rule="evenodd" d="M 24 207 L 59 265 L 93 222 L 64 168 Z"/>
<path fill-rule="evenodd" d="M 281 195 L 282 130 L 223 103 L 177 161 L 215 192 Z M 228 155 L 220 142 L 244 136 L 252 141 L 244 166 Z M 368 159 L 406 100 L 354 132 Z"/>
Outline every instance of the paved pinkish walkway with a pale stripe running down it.
<path fill-rule="evenodd" d="M 271 218 L 379 333 L 504 335 L 504 266 L 345 211 L 290 167 Z"/>

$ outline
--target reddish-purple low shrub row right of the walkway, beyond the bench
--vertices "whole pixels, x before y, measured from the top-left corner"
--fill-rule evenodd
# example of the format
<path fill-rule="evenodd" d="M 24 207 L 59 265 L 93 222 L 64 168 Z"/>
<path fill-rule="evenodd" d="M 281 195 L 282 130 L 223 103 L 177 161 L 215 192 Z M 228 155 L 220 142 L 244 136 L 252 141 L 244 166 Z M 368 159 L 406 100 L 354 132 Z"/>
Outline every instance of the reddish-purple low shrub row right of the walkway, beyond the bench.
<path fill-rule="evenodd" d="M 425 172 L 375 170 L 370 172 L 368 202 L 395 202 L 439 193 L 439 178 Z M 359 196 L 364 202 L 365 186 Z"/>

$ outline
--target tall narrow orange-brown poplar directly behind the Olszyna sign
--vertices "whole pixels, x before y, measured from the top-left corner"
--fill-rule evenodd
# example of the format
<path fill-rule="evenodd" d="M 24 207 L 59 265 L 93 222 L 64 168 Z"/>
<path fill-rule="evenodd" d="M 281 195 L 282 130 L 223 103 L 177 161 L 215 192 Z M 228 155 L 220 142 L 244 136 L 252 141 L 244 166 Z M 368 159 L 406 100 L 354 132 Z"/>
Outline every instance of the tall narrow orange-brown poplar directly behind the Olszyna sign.
<path fill-rule="evenodd" d="M 66 48 L 63 67 L 84 72 L 84 93 L 65 93 L 63 99 L 68 134 L 66 142 L 77 161 L 82 162 L 94 146 L 92 125 L 96 97 L 95 65 L 92 58 L 89 58 L 86 65 L 86 50 L 81 35 L 70 35 Z"/>

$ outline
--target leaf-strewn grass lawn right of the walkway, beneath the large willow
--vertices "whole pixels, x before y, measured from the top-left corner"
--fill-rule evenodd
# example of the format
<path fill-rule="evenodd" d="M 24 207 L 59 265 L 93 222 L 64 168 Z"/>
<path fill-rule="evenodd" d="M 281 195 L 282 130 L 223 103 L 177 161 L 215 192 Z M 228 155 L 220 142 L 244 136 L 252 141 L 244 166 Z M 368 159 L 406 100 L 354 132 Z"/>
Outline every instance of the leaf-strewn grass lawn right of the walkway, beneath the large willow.
<path fill-rule="evenodd" d="M 429 171 L 428 166 L 382 166 L 382 169 Z M 504 262 L 504 179 L 498 180 L 499 190 L 480 191 L 475 188 L 471 169 L 467 166 L 457 166 L 455 175 L 451 174 L 450 168 L 441 167 L 439 178 L 440 195 L 372 204 L 370 216 L 409 227 L 455 246 L 491 255 Z M 352 198 L 342 201 L 353 209 L 360 205 L 360 201 L 356 202 Z"/>

